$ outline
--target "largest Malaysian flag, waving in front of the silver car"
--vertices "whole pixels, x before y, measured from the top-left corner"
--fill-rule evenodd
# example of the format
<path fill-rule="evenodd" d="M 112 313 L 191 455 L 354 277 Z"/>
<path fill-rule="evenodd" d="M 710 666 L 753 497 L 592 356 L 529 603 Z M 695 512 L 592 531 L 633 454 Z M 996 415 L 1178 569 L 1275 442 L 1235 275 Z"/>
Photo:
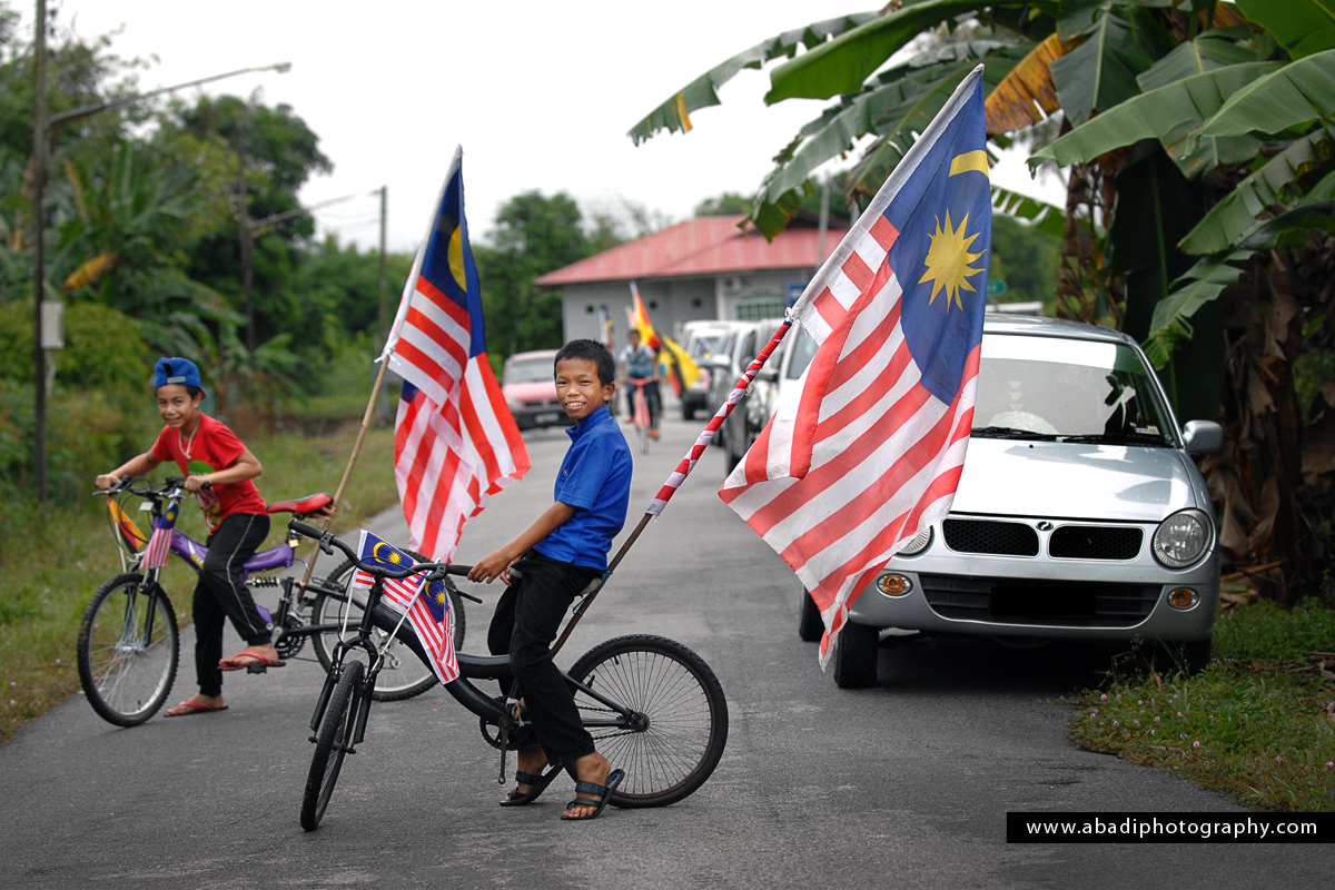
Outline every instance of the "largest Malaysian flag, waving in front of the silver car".
<path fill-rule="evenodd" d="M 794 304 L 818 348 L 720 491 L 810 591 L 822 666 L 849 604 L 949 512 L 964 470 L 992 240 L 981 72 Z"/>

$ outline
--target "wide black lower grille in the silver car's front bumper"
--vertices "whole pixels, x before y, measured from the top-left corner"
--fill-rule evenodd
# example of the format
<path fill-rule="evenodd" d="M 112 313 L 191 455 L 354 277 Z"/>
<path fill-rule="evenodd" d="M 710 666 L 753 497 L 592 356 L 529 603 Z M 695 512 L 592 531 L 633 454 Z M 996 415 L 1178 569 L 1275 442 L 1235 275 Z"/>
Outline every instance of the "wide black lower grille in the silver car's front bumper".
<path fill-rule="evenodd" d="M 1133 627 L 1159 600 L 1157 584 L 918 575 L 941 618 L 992 624 Z"/>

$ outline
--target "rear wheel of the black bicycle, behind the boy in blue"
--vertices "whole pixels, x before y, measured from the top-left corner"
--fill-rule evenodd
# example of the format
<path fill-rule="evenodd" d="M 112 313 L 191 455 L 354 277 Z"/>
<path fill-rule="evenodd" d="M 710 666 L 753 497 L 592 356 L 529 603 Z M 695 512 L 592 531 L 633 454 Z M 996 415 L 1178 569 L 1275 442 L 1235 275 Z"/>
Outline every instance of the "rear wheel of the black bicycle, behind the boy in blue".
<path fill-rule="evenodd" d="M 668 806 L 693 794 L 728 745 L 728 702 L 696 652 L 663 636 L 618 636 L 589 650 L 570 677 L 631 711 L 622 717 L 583 690 L 575 705 L 598 750 L 626 778 L 619 807 Z"/>

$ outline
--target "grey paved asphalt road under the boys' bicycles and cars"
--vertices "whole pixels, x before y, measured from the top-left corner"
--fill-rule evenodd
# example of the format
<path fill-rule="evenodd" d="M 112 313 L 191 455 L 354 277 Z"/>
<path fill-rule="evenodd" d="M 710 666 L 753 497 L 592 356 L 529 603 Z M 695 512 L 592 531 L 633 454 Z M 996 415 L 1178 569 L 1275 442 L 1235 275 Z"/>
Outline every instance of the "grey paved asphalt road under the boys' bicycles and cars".
<path fill-rule="evenodd" d="M 637 456 L 631 523 L 697 430 L 669 418 L 663 442 Z M 461 560 L 550 503 L 566 436 L 527 442 L 529 479 L 474 520 Z M 688 801 L 570 825 L 557 819 L 571 797 L 562 779 L 539 805 L 503 810 L 498 758 L 435 690 L 372 710 L 323 825 L 306 834 L 320 674 L 302 662 L 230 674 L 224 714 L 119 730 L 75 698 L 20 730 L 0 749 L 0 886 L 1239 887 L 1323 886 L 1335 871 L 1315 846 L 1008 846 L 1008 810 L 1236 807 L 1067 745 L 1060 698 L 1091 679 L 1076 650 L 882 651 L 878 687 L 836 689 L 797 640 L 792 574 L 714 495 L 722 475 L 712 451 L 561 659 L 630 631 L 705 656 L 732 734 Z M 392 516 L 376 527 L 402 534 Z M 466 650 L 483 647 L 497 595 L 470 604 Z M 188 656 L 188 631 L 186 642 Z M 192 686 L 184 664 L 178 697 Z"/>

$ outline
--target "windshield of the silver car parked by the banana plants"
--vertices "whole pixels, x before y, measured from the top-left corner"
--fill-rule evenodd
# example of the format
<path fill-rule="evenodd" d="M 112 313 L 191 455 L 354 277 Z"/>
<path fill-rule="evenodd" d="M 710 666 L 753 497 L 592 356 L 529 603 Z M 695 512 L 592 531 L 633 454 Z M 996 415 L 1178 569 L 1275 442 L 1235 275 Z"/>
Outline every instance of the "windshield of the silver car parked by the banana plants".
<path fill-rule="evenodd" d="M 1172 444 L 1167 412 L 1132 348 L 1001 334 L 983 338 L 973 435 Z"/>

